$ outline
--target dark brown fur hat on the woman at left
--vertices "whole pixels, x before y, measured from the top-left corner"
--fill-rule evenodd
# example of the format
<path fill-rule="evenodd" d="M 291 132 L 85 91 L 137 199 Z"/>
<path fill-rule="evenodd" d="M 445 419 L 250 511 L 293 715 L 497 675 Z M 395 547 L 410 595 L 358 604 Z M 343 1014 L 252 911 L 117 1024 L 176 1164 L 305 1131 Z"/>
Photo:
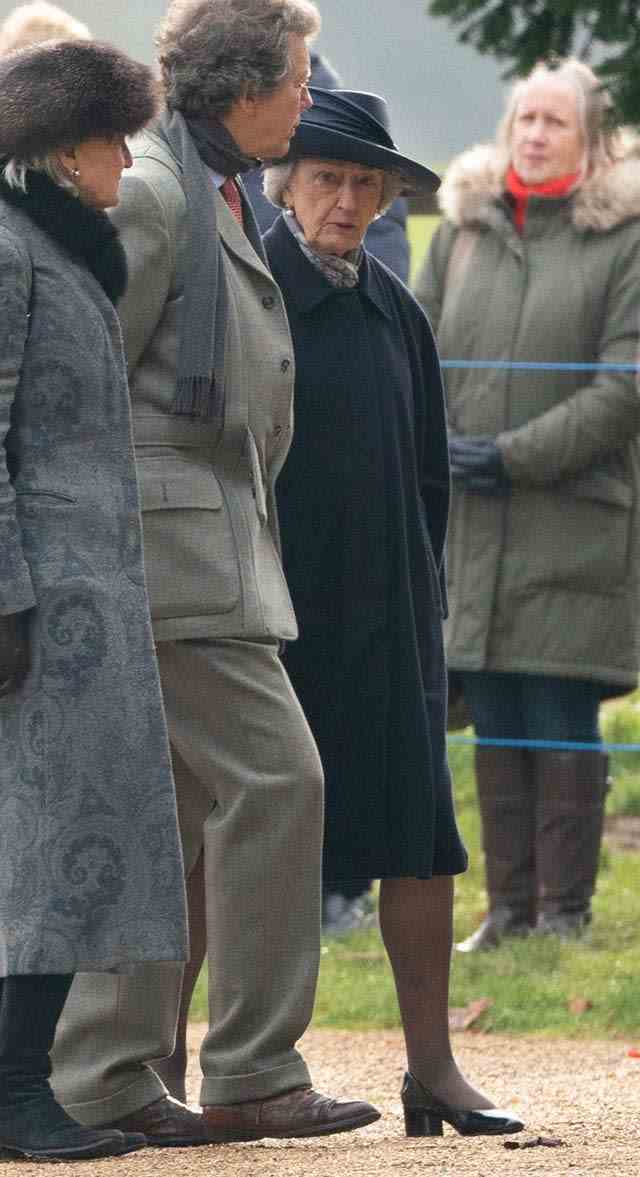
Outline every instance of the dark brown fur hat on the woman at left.
<path fill-rule="evenodd" d="M 156 112 L 151 69 L 112 45 L 47 41 L 0 59 L 0 157 L 131 135 Z"/>

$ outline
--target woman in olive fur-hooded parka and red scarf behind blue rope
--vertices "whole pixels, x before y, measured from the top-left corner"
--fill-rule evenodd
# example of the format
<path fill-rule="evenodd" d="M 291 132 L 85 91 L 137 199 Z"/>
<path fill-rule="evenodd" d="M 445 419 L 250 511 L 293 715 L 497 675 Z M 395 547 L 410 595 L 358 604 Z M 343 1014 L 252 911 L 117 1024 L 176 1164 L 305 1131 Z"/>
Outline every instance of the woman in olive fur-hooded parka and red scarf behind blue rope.
<path fill-rule="evenodd" d="M 575 60 L 519 82 L 496 142 L 452 165 L 418 282 L 441 354 L 471 361 L 447 374 L 448 657 L 486 742 L 467 952 L 588 925 L 599 704 L 636 683 L 640 160 L 609 105 Z"/>

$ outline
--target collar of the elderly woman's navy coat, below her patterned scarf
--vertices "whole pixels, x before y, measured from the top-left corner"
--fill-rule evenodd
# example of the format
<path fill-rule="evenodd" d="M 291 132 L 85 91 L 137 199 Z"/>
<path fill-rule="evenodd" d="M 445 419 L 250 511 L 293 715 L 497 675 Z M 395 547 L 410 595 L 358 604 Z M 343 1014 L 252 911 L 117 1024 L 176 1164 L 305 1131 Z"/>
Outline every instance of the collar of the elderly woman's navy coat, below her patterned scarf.
<path fill-rule="evenodd" d="M 352 294 L 351 290 L 336 290 L 305 257 L 295 238 L 285 225 L 284 214 L 278 217 L 272 228 L 265 234 L 265 246 L 275 271 L 280 271 L 286 285 L 295 292 L 295 306 L 301 314 L 315 311 L 329 298 L 342 298 Z M 384 280 L 384 267 L 375 262 L 367 251 L 364 251 L 360 265 L 360 282 L 355 288 L 386 319 L 392 318 L 392 305 Z"/>

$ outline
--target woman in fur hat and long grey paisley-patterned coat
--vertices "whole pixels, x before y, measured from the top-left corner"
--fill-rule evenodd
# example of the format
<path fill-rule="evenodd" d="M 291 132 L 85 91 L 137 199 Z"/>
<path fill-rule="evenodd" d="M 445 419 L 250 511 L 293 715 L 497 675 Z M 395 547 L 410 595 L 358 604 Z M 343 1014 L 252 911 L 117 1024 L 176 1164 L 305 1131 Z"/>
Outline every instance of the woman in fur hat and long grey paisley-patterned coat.
<path fill-rule="evenodd" d="M 154 108 L 108 46 L 0 62 L 0 1150 L 39 1158 L 145 1141 L 53 1097 L 73 975 L 186 955 L 105 213 Z"/>

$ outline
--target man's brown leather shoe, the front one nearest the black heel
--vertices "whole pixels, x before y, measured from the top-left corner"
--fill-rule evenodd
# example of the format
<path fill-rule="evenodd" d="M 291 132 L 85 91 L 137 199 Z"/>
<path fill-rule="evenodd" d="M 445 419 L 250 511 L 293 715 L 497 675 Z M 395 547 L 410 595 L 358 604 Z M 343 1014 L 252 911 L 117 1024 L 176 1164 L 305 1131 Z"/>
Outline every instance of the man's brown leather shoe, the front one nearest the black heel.
<path fill-rule="evenodd" d="M 351 1132 L 380 1119 L 380 1112 L 361 1100 L 338 1103 L 313 1088 L 293 1088 L 284 1095 L 251 1103 L 219 1104 L 202 1109 L 211 1138 L 261 1141 L 264 1137 L 328 1136 Z"/>

